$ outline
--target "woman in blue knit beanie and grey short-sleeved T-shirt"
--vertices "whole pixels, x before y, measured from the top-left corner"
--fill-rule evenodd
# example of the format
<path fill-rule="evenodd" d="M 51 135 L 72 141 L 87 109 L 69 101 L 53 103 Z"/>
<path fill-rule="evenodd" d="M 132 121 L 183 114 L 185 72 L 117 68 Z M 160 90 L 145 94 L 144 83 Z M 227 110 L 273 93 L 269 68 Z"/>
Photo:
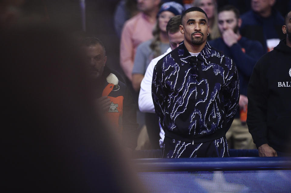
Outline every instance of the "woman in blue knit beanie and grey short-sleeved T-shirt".
<path fill-rule="evenodd" d="M 142 82 L 150 61 L 160 56 L 162 53 L 165 53 L 169 48 L 169 38 L 166 31 L 168 21 L 175 15 L 181 15 L 182 11 L 183 6 L 179 3 L 164 3 L 157 14 L 158 20 L 152 32 L 154 38 L 141 43 L 137 47 L 132 69 L 132 86 L 136 92 L 139 92 L 140 83 Z"/>

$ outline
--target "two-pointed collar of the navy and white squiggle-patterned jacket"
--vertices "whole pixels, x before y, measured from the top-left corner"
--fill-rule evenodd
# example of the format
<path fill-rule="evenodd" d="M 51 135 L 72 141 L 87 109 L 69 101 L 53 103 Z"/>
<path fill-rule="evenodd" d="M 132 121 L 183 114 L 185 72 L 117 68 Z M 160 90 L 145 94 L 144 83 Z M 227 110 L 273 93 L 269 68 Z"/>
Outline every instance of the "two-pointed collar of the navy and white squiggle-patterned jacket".
<path fill-rule="evenodd" d="M 184 65 L 185 63 L 189 62 L 191 54 L 187 50 L 184 41 L 178 47 L 178 55 L 181 61 L 181 65 Z M 197 58 L 201 60 L 201 62 L 204 63 L 205 65 L 208 65 L 210 56 L 211 56 L 211 46 L 209 45 L 208 42 L 206 42 L 204 48 L 201 50 Z"/>

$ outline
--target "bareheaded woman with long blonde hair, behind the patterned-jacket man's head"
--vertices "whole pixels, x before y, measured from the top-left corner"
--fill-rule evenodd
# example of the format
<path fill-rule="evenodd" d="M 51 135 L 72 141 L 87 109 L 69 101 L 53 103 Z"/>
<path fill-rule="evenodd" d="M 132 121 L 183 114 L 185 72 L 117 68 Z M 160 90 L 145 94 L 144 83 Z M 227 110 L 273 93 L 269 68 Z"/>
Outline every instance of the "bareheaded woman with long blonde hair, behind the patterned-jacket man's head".
<path fill-rule="evenodd" d="M 207 40 L 213 40 L 220 37 L 217 25 L 217 5 L 215 0 L 195 0 L 194 7 L 199 7 L 205 11 L 209 23 L 209 36 Z"/>

